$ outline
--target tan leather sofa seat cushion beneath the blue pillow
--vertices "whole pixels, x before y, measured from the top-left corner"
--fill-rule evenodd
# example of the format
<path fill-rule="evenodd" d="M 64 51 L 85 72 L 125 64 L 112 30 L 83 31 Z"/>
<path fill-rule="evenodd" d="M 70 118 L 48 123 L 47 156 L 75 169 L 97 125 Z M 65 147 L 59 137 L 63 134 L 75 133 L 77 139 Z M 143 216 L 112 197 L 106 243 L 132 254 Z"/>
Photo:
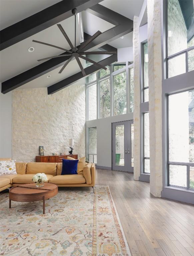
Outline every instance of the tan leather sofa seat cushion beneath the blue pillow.
<path fill-rule="evenodd" d="M 55 184 L 82 184 L 86 183 L 86 180 L 82 174 L 68 174 L 54 176 L 49 182 Z"/>

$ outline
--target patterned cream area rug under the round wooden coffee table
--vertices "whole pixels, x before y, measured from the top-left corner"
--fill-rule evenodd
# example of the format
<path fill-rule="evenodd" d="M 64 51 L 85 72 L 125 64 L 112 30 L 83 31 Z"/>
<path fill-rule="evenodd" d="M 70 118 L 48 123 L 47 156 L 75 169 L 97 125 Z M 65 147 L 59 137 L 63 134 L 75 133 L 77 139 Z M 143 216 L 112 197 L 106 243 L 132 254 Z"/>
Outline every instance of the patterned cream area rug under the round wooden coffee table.
<path fill-rule="evenodd" d="M 59 190 L 45 215 L 42 201 L 0 204 L 0 255 L 131 255 L 108 186 Z"/>

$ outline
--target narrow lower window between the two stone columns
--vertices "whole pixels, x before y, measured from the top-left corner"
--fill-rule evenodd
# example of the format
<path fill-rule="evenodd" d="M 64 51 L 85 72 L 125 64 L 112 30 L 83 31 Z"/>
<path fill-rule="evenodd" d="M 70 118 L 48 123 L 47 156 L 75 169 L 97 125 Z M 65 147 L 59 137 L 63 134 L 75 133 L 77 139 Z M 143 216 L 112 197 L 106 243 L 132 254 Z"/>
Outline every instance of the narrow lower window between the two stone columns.
<path fill-rule="evenodd" d="M 144 173 L 150 173 L 149 113 L 144 113 Z"/>

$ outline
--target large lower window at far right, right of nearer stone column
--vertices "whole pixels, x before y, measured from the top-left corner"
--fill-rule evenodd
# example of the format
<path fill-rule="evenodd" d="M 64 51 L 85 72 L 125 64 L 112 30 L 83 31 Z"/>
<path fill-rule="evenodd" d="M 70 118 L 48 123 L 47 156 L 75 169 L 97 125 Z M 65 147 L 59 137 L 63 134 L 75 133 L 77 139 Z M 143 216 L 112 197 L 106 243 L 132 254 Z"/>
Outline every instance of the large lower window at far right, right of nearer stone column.
<path fill-rule="evenodd" d="M 194 189 L 194 90 L 168 96 L 168 184 Z"/>

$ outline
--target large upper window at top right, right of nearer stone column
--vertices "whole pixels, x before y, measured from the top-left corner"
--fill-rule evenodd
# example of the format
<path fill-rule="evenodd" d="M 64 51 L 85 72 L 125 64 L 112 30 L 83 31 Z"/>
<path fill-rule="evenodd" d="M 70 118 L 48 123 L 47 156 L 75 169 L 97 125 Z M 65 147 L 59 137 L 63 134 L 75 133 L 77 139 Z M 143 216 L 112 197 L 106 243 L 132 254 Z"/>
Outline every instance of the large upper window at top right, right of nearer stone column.
<path fill-rule="evenodd" d="M 194 70 L 194 3 L 167 1 L 167 77 Z"/>

